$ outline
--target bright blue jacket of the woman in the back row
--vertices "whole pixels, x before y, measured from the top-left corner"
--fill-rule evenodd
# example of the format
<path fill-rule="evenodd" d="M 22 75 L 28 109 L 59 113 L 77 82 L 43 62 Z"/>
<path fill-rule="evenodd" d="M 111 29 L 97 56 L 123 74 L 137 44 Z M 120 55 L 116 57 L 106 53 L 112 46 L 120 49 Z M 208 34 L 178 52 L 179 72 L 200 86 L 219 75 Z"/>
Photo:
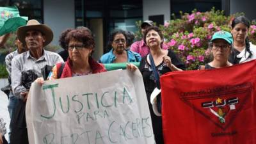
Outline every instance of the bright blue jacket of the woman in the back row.
<path fill-rule="evenodd" d="M 132 52 L 130 50 L 125 50 L 127 52 L 127 62 L 140 62 L 141 56 L 140 54 L 136 52 Z M 116 60 L 116 56 L 113 53 L 113 49 L 111 51 L 107 52 L 106 54 L 103 54 L 101 56 L 99 63 L 113 63 L 113 61 Z"/>

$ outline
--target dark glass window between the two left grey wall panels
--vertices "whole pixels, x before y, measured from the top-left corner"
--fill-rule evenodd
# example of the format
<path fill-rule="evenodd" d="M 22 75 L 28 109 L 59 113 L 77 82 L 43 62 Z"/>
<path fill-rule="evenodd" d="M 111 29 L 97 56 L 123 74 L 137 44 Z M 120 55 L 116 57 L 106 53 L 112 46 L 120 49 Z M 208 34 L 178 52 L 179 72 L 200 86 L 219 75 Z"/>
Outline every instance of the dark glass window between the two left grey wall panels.
<path fill-rule="evenodd" d="M 75 0 L 76 27 L 92 28 L 93 19 L 102 19 L 104 47 L 113 29 L 137 31 L 136 21 L 142 20 L 142 0 Z"/>

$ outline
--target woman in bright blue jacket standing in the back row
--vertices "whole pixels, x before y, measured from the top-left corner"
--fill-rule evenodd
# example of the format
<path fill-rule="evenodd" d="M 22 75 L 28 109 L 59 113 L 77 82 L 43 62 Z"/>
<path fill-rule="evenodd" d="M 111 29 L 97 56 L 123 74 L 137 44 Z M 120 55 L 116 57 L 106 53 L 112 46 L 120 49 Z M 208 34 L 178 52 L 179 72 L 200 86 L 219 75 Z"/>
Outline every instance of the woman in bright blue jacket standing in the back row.
<path fill-rule="evenodd" d="M 108 47 L 111 47 L 111 50 L 101 56 L 99 63 L 140 62 L 140 54 L 126 49 L 126 41 L 125 31 L 120 29 L 113 31 L 109 36 L 108 42 Z"/>

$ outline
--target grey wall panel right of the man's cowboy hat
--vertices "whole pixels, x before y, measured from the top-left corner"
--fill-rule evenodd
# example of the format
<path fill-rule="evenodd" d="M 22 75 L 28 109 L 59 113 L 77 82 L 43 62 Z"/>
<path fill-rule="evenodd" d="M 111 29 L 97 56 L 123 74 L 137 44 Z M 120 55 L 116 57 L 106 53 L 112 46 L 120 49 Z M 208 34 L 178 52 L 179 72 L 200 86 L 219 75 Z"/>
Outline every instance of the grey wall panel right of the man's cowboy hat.
<path fill-rule="evenodd" d="M 75 27 L 74 0 L 44 0 L 44 24 L 53 31 L 51 44 L 58 45 L 61 32 Z"/>

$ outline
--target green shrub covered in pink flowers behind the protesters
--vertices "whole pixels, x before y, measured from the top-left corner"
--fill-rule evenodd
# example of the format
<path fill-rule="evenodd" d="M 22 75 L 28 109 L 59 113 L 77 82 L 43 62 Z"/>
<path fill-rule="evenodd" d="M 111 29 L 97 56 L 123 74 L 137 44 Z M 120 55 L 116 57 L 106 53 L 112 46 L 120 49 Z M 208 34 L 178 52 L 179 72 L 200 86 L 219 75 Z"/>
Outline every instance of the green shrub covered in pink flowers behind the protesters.
<path fill-rule="evenodd" d="M 196 12 L 191 14 L 180 12 L 181 18 L 170 20 L 160 26 L 166 44 L 186 64 L 188 70 L 198 68 L 212 60 L 209 41 L 216 31 L 230 31 L 233 16 L 226 17 L 223 11 Z M 236 15 L 242 15 L 238 13 Z M 256 43 L 256 26 L 252 25 L 248 36 Z"/>

